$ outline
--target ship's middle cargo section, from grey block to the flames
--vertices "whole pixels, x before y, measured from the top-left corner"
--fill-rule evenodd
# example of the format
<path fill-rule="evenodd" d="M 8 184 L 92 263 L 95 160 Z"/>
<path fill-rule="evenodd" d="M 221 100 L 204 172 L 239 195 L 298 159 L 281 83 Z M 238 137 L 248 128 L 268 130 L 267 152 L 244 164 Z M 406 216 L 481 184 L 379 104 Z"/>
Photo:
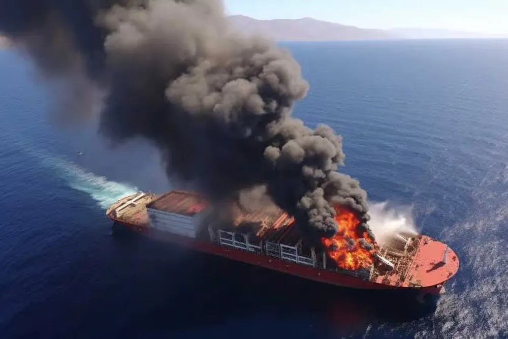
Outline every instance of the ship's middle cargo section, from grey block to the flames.
<path fill-rule="evenodd" d="M 267 255 L 304 266 L 325 268 L 369 280 L 373 265 L 344 269 L 321 246 L 299 234 L 294 218 L 271 206 L 245 211 L 232 206 L 211 208 L 199 195 L 172 191 L 146 206 L 150 227 L 198 241 Z"/>

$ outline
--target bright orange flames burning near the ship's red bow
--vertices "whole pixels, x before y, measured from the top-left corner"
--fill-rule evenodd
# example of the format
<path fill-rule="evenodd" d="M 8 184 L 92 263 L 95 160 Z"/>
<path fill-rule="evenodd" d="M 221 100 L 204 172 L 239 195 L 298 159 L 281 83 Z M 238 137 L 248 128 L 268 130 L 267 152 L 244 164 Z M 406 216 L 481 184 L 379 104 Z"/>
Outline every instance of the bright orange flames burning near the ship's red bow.
<path fill-rule="evenodd" d="M 335 221 L 339 229 L 333 237 L 321 239 L 328 255 L 338 267 L 343 269 L 356 270 L 369 267 L 373 262 L 374 250 L 369 251 L 362 248 L 359 239 L 364 238 L 375 246 L 374 240 L 367 232 L 359 234 L 360 221 L 353 212 L 341 206 L 334 206 L 334 208 L 336 211 Z"/>

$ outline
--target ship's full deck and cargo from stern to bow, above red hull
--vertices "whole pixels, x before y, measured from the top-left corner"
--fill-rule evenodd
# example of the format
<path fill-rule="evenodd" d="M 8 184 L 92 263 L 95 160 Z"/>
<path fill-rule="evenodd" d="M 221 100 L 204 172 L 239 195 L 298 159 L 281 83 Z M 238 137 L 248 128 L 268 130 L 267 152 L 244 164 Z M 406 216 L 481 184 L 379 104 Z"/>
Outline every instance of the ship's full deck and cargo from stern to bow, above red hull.
<path fill-rule="evenodd" d="M 147 230 L 169 232 L 193 241 L 212 242 L 394 287 L 439 285 L 458 269 L 457 257 L 448 246 L 422 235 L 397 235 L 386 248 L 376 246 L 371 252 L 371 264 L 344 268 L 326 246 L 315 246 L 302 238 L 295 220 L 278 208 L 253 212 L 233 208 L 230 214 L 221 212 L 224 211 L 211 208 L 197 194 L 171 191 L 159 197 L 149 194 L 125 197 L 111 206 L 107 214 L 116 221 Z"/>

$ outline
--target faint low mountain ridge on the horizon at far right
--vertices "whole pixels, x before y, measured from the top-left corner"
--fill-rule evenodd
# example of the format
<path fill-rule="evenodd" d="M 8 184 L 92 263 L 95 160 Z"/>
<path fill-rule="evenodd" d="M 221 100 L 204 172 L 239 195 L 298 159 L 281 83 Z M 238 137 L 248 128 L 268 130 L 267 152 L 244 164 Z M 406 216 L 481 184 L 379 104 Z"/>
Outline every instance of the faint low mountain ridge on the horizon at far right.
<path fill-rule="evenodd" d="M 456 30 L 439 28 L 395 28 L 390 29 L 394 35 L 402 39 L 486 39 L 508 38 L 508 35 L 486 34 L 477 32 L 459 32 Z"/>

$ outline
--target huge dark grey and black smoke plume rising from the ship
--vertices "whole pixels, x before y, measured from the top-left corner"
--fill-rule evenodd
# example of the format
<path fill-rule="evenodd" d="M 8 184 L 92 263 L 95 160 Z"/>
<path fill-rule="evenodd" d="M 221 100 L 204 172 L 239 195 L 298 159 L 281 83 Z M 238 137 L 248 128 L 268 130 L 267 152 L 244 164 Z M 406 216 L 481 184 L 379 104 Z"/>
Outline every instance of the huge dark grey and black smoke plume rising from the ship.
<path fill-rule="evenodd" d="M 65 115 L 89 114 L 101 91 L 102 135 L 150 140 L 171 178 L 211 199 L 269 196 L 307 236 L 336 233 L 335 203 L 368 220 L 365 191 L 337 172 L 341 137 L 290 116 L 308 89 L 300 66 L 230 32 L 221 2 L 0 0 L 0 30 L 74 88 Z"/>

